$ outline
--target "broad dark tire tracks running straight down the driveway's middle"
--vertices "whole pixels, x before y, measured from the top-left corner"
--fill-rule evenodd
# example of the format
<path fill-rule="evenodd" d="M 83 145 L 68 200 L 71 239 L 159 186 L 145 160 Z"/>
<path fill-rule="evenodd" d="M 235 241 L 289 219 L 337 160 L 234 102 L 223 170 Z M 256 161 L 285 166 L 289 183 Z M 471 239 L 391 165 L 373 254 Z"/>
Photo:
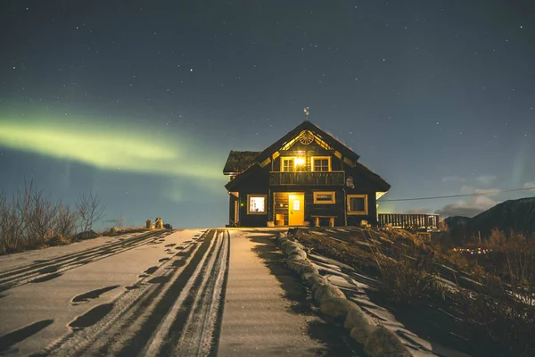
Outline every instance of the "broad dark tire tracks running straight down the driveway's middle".
<path fill-rule="evenodd" d="M 189 256 L 177 253 L 156 271 L 160 284 L 126 290 L 103 320 L 72 331 L 45 354 L 206 356 L 217 349 L 228 271 L 229 235 L 211 229 Z M 186 262 L 185 262 L 186 261 Z M 177 262 L 185 262 L 178 264 Z M 153 279 L 153 278 L 152 278 Z"/>

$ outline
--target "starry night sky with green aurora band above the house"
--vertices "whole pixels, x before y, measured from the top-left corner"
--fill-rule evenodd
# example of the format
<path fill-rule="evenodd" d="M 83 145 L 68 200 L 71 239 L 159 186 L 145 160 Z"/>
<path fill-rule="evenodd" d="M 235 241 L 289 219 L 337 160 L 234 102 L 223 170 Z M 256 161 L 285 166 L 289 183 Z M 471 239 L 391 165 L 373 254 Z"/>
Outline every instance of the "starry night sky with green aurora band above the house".
<path fill-rule="evenodd" d="M 3 1 L 0 189 L 99 192 L 108 227 L 221 226 L 228 152 L 305 106 L 391 184 L 381 200 L 535 187 L 533 19 L 532 0 Z"/>

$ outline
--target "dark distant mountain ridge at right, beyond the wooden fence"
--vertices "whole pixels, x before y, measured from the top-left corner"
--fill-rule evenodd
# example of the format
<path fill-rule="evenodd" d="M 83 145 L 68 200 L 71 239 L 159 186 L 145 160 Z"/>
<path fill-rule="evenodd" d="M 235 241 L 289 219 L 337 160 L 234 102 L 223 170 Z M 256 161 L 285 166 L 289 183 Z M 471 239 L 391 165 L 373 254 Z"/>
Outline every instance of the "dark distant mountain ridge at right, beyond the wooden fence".
<path fill-rule="evenodd" d="M 445 221 L 450 232 L 460 237 L 478 234 L 481 234 L 481 237 L 489 237 L 493 228 L 506 233 L 511 230 L 535 233 L 535 197 L 498 203 L 473 218 L 454 216 Z"/>

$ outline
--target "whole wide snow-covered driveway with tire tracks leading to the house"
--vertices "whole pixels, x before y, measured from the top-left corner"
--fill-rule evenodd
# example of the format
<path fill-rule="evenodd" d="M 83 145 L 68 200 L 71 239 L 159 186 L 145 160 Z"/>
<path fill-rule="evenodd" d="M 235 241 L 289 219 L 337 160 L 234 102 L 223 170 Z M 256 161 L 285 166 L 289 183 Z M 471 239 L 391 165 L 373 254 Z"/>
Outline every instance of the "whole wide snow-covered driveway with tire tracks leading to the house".
<path fill-rule="evenodd" d="M 296 309 L 307 295 L 274 237 L 152 231 L 2 256 L 0 355 L 357 355 Z"/>

